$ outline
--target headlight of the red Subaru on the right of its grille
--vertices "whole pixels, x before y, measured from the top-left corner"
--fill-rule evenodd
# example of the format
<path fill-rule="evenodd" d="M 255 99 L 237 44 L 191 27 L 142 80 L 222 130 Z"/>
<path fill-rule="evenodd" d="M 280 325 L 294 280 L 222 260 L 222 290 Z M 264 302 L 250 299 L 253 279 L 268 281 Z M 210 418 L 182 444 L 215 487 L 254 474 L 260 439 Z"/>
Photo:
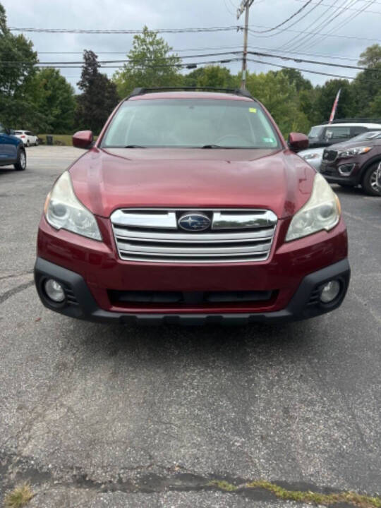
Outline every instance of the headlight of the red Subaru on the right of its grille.
<path fill-rule="evenodd" d="M 317 174 L 310 199 L 296 212 L 289 225 L 286 241 L 296 240 L 317 231 L 329 231 L 339 222 L 340 202 L 324 176 Z"/>

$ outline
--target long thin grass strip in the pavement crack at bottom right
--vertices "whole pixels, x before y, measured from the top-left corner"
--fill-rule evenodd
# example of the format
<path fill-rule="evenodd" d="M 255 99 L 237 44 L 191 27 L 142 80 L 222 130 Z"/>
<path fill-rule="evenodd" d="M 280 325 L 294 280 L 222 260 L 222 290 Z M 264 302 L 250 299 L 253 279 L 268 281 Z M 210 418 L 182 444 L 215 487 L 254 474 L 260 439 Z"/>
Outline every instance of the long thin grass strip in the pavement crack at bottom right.
<path fill-rule="evenodd" d="M 320 492 L 287 490 L 275 483 L 265 480 L 255 480 L 236 487 L 225 480 L 212 480 L 208 483 L 226 492 L 234 492 L 238 488 L 262 488 L 272 492 L 279 499 L 287 501 L 296 501 L 310 504 L 321 504 L 322 506 L 331 506 L 332 504 L 347 503 L 358 508 L 381 508 L 380 497 L 370 497 L 357 494 L 356 492 L 337 492 L 334 494 L 321 494 Z"/>

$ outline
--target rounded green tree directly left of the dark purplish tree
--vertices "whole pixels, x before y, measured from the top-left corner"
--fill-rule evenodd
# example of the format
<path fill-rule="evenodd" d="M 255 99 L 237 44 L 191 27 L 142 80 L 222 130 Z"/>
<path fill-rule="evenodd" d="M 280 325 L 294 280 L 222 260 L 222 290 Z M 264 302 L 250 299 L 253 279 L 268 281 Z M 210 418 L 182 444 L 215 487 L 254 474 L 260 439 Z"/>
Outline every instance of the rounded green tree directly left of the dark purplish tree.
<path fill-rule="evenodd" d="M 44 117 L 40 131 L 71 133 L 73 131 L 75 95 L 73 87 L 54 68 L 38 71 L 26 92 L 32 104 Z"/>

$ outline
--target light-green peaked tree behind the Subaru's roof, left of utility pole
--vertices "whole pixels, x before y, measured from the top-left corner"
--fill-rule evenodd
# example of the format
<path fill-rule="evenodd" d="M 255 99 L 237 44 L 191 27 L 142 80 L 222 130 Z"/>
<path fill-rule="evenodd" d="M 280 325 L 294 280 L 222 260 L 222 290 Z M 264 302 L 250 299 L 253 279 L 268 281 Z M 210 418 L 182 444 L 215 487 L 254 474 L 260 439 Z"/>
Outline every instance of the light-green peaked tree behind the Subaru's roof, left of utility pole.
<path fill-rule="evenodd" d="M 172 48 L 157 32 L 148 30 L 133 37 L 133 47 L 128 53 L 128 63 L 114 74 L 114 83 L 123 98 L 135 87 L 178 86 L 182 83 L 179 73 L 181 59 L 170 55 Z"/>

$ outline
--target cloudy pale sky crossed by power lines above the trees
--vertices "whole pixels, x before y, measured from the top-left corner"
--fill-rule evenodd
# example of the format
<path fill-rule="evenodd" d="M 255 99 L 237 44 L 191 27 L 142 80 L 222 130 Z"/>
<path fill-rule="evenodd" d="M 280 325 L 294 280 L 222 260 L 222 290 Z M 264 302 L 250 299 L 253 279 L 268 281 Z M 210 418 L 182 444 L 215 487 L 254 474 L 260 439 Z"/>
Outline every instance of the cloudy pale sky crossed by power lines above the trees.
<path fill-rule="evenodd" d="M 32 28 L 91 28 L 140 30 L 242 25 L 236 20 L 237 0 L 0 0 L 6 8 L 9 27 Z M 282 23 L 298 11 L 307 0 L 255 0 L 250 8 L 251 30 L 266 30 Z M 370 44 L 381 43 L 381 0 L 311 0 L 301 13 L 282 28 L 262 34 L 251 33 L 249 47 L 254 51 L 271 52 L 301 59 L 319 60 L 344 65 L 356 65 L 358 56 Z M 284 28 L 286 30 L 284 30 Z M 312 37 L 310 32 L 317 32 Z M 327 35 L 330 34 L 330 35 Z M 25 33 L 35 45 L 40 61 L 80 60 L 77 54 L 48 54 L 44 52 L 83 52 L 92 49 L 99 60 L 123 59 L 123 52 L 131 49 L 133 35 L 78 35 Z M 243 34 L 236 32 L 164 34 L 165 40 L 179 51 L 179 55 L 239 50 Z M 204 48 L 215 48 L 204 49 Z M 184 51 L 181 51 L 184 50 Z M 221 57 L 219 57 L 221 58 Z M 229 58 L 229 55 L 222 58 Z M 253 59 L 258 59 L 252 56 Z M 204 60 L 214 59 L 213 57 Z M 280 59 L 259 58 L 284 66 L 311 69 L 342 76 L 356 75 L 346 68 L 317 66 Z M 192 59 L 186 61 L 191 62 Z M 194 61 L 202 61 L 200 58 Z M 232 72 L 241 63 L 224 63 Z M 248 63 L 250 72 L 277 69 L 263 63 Z M 105 71 L 104 71 L 105 72 Z M 107 70 L 112 75 L 112 69 Z M 61 73 L 75 86 L 80 69 L 61 69 Z M 329 77 L 303 73 L 314 84 L 322 84 Z"/>

